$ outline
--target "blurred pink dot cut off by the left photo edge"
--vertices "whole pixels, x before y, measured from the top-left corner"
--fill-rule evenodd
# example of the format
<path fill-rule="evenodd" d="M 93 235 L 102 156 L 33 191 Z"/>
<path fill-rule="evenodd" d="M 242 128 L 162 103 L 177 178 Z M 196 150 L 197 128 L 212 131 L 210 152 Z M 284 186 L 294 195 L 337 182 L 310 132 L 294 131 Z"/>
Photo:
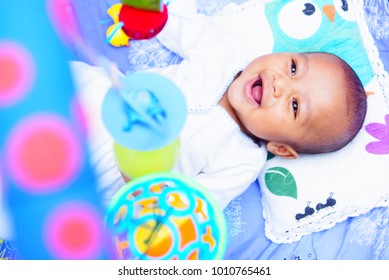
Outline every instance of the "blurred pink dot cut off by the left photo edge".
<path fill-rule="evenodd" d="M 0 42 L 0 107 L 23 99 L 35 80 L 34 60 L 21 45 Z"/>

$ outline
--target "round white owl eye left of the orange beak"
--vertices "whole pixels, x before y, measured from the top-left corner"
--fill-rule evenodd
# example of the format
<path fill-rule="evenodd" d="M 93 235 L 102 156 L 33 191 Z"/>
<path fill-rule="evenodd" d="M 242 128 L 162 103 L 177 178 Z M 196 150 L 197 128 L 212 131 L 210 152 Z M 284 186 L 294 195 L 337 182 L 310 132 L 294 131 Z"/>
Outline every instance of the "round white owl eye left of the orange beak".
<path fill-rule="evenodd" d="M 310 0 L 287 3 L 278 14 L 278 23 L 286 35 L 294 39 L 307 39 L 314 35 L 322 22 L 318 6 Z"/>

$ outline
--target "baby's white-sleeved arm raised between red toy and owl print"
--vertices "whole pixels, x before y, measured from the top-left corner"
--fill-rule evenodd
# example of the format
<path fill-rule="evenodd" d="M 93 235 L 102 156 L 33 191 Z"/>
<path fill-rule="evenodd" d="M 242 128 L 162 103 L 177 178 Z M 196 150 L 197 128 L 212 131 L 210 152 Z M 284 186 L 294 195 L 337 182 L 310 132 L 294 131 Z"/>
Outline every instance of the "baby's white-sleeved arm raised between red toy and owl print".
<path fill-rule="evenodd" d="M 230 3 L 219 13 L 207 16 L 197 13 L 195 0 L 173 0 L 168 11 L 168 21 L 157 38 L 184 59 L 201 58 L 204 49 L 212 46 L 217 46 L 219 52 L 226 52 L 224 48 L 231 43 L 226 41 L 227 37 L 238 42 L 231 48 L 234 51 L 231 56 L 239 54 L 246 62 L 273 49 L 274 40 L 265 16 L 264 1 L 246 1 L 240 5 Z M 219 46 L 218 42 L 223 44 Z"/>

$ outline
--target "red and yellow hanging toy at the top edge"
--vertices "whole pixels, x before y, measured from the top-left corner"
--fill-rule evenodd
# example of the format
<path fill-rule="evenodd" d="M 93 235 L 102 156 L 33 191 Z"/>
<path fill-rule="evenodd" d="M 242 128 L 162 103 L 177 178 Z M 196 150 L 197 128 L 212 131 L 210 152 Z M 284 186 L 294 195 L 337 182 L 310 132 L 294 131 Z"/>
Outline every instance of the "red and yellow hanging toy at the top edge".
<path fill-rule="evenodd" d="M 123 0 L 123 3 L 107 10 L 114 23 L 107 29 L 106 42 L 112 46 L 128 46 L 130 39 L 153 38 L 167 22 L 167 6 L 161 1 Z"/>

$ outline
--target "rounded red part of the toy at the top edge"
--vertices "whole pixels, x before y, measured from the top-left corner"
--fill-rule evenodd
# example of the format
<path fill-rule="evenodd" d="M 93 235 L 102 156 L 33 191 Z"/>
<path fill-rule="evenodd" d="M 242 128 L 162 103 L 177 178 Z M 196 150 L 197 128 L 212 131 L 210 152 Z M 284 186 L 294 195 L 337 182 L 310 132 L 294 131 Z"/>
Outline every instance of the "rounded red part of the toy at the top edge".
<path fill-rule="evenodd" d="M 124 23 L 123 31 L 132 39 L 150 39 L 165 26 L 168 19 L 166 5 L 161 12 L 146 11 L 123 5 L 119 21 Z"/>

